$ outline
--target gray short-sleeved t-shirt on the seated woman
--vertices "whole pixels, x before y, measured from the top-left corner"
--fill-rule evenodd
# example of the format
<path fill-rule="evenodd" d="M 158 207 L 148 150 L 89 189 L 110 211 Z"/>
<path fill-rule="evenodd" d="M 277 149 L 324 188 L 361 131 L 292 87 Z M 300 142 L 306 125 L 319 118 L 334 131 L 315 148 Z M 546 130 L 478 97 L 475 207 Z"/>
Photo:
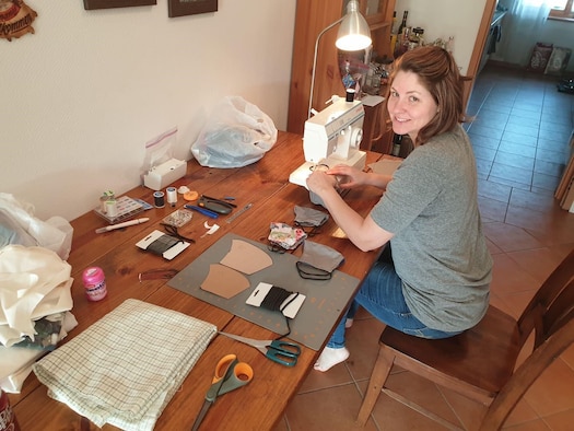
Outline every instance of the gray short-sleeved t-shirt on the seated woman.
<path fill-rule="evenodd" d="M 371 217 L 395 234 L 393 260 L 419 321 L 457 331 L 483 317 L 492 258 L 478 208 L 475 156 L 462 127 L 414 149 Z"/>

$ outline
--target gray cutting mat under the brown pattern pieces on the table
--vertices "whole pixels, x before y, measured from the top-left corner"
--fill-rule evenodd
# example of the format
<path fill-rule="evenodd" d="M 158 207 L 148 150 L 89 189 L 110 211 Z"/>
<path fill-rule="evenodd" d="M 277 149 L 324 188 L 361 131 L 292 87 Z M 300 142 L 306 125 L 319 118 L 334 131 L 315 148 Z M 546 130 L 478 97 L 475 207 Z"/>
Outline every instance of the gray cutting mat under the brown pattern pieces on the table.
<path fill-rule="evenodd" d="M 233 240 L 245 241 L 259 247 L 271 256 L 273 264 L 251 276 L 246 276 L 250 288 L 226 300 L 202 290 L 200 286 L 208 276 L 209 266 L 220 263 L 230 252 Z M 167 284 L 277 334 L 288 331 L 283 315 L 280 312 L 247 305 L 245 301 L 259 282 L 303 293 L 307 298 L 295 318 L 290 322 L 289 338 L 311 349 L 319 350 L 358 287 L 359 279 L 336 270 L 330 280 L 305 280 L 298 276 L 295 267 L 297 260 L 296 256 L 289 253 L 273 253 L 268 251 L 266 244 L 227 233 L 179 271 Z"/>

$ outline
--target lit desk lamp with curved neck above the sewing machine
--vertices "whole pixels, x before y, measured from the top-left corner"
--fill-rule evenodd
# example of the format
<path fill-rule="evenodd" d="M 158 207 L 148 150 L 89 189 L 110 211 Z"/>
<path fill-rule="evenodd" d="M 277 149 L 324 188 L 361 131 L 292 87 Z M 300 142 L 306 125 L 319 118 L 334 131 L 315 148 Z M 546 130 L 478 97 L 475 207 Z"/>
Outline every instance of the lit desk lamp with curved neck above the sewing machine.
<path fill-rule="evenodd" d="M 317 69 L 319 40 L 325 33 L 339 23 L 341 26 L 339 27 L 339 32 L 337 33 L 337 42 L 335 43 L 337 48 L 344 51 L 358 51 L 365 49 L 372 43 L 368 24 L 366 23 L 366 20 L 363 18 L 363 15 L 361 15 L 359 12 L 359 1 L 349 1 L 347 4 L 347 14 L 325 27 L 317 36 L 317 40 L 315 40 L 315 55 L 313 57 L 313 73 L 311 78 L 309 109 L 307 113 L 307 118 L 311 118 L 311 115 L 313 114 L 313 91 L 315 90 L 315 72 Z"/>

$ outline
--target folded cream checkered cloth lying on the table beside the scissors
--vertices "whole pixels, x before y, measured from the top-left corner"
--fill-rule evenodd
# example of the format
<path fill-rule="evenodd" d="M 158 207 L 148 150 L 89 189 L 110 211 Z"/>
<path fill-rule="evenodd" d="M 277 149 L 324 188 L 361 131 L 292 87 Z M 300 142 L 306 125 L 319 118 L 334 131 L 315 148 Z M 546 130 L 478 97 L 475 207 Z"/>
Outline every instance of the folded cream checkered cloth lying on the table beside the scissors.
<path fill-rule="evenodd" d="M 216 334 L 212 324 L 127 300 L 34 365 L 48 395 L 98 427 L 152 430 Z"/>

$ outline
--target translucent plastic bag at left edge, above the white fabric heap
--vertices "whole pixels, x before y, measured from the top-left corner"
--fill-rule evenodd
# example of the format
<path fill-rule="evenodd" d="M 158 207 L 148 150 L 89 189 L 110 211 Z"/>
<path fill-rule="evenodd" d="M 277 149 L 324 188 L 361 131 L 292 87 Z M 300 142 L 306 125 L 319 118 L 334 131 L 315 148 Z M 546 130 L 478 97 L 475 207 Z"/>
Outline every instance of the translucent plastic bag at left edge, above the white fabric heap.
<path fill-rule="evenodd" d="M 0 193 L 0 248 L 8 244 L 40 246 L 66 260 L 72 247 L 72 225 L 55 215 L 46 221 L 34 217 L 34 207 Z"/>

